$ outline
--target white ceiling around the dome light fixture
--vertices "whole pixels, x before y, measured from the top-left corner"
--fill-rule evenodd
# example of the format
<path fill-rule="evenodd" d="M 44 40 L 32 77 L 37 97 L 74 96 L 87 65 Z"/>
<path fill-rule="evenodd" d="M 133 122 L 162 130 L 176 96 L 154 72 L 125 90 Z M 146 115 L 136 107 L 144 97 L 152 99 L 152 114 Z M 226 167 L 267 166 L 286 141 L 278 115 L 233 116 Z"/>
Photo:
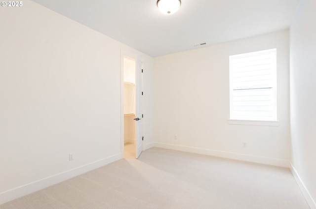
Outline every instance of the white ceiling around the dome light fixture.
<path fill-rule="evenodd" d="M 33 0 L 152 57 L 289 28 L 300 0 Z M 198 46 L 202 47 L 202 46 Z"/>

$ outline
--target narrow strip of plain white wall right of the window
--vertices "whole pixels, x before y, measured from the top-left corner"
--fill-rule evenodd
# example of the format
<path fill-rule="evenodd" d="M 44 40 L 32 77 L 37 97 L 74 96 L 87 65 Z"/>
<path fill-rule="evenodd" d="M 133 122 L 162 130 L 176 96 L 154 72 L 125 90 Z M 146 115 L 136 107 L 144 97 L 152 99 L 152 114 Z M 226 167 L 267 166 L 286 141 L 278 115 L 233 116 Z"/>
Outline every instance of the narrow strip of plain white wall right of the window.
<path fill-rule="evenodd" d="M 290 28 L 291 163 L 316 209 L 316 1 L 302 0 Z"/>

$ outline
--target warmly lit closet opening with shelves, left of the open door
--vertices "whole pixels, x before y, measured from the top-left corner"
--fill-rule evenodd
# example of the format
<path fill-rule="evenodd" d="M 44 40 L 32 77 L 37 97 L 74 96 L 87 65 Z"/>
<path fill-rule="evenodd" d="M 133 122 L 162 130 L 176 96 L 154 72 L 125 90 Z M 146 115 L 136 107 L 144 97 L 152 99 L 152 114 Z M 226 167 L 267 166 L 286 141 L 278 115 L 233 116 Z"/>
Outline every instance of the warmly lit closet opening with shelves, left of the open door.
<path fill-rule="evenodd" d="M 123 57 L 124 158 L 136 158 L 136 60 Z"/>

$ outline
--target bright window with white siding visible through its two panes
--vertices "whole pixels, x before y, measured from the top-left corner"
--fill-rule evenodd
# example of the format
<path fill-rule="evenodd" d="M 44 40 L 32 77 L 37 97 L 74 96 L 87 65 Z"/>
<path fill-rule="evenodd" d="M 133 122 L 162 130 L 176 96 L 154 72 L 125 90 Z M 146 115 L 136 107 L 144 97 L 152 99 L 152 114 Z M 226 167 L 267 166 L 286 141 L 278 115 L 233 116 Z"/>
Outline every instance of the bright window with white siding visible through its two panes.
<path fill-rule="evenodd" d="M 230 119 L 276 121 L 276 49 L 229 58 Z"/>

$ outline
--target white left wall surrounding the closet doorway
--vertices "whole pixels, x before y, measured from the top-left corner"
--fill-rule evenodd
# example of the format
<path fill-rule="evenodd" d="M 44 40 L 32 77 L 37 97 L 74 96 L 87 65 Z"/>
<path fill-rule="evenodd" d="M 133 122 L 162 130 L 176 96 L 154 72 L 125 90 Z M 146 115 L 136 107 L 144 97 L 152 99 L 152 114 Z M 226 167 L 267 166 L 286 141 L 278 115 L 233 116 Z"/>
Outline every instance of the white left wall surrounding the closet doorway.
<path fill-rule="evenodd" d="M 147 92 L 153 59 L 30 0 L 0 26 L 0 204 L 119 159 L 121 50 L 146 63 Z"/>

